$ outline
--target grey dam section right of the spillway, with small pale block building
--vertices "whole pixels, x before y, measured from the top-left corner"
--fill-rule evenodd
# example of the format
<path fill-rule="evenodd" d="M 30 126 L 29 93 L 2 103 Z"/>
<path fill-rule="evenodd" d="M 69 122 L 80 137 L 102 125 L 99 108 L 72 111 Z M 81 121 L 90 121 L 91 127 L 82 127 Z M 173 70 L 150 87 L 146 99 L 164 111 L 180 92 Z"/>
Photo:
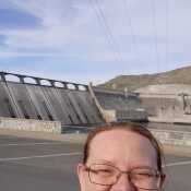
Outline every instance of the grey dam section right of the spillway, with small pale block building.
<path fill-rule="evenodd" d="M 105 112 L 106 121 L 147 121 L 136 94 L 96 87 L 94 94 Z"/>

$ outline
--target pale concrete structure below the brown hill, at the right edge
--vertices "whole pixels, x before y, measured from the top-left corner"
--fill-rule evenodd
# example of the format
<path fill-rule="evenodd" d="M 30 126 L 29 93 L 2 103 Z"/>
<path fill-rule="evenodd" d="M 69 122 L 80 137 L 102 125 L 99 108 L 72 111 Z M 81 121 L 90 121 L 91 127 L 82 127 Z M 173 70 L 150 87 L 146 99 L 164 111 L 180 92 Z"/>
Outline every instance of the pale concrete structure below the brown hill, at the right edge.
<path fill-rule="evenodd" d="M 160 84 L 136 89 L 148 121 L 191 123 L 191 85 Z"/>

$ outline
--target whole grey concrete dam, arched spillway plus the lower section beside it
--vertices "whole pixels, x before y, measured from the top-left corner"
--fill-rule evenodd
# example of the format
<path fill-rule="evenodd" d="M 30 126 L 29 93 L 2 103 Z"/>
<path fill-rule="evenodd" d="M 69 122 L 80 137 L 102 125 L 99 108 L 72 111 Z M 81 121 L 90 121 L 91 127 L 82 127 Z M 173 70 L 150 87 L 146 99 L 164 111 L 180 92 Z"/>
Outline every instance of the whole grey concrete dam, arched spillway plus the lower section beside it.
<path fill-rule="evenodd" d="M 3 118 L 60 121 L 62 127 L 146 118 L 135 94 L 7 72 L 0 76 Z"/>

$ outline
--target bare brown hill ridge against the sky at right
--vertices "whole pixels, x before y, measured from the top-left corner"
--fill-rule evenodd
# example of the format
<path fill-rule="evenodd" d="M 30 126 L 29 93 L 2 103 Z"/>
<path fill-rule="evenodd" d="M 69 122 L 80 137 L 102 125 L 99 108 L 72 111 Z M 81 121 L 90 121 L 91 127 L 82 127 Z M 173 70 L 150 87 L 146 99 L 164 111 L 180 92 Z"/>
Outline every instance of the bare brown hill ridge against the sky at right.
<path fill-rule="evenodd" d="M 98 87 L 134 91 L 147 85 L 158 84 L 190 84 L 191 67 L 179 68 L 168 72 L 141 75 L 119 75 Z"/>

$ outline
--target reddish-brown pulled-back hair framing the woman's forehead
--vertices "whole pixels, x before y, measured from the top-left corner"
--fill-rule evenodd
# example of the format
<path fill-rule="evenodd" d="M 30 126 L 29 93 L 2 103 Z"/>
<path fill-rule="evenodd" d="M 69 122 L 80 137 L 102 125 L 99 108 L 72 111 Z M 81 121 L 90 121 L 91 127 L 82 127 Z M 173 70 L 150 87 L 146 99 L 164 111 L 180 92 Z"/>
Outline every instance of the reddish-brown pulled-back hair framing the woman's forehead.
<path fill-rule="evenodd" d="M 138 134 L 145 136 L 151 142 L 151 144 L 153 145 L 153 147 L 156 151 L 157 167 L 158 167 L 158 170 L 160 172 L 163 172 L 162 157 L 164 155 L 163 155 L 162 148 L 159 146 L 159 143 L 157 142 L 157 140 L 153 136 L 153 134 L 145 127 L 138 124 L 138 123 L 130 123 L 130 122 L 107 123 L 105 126 L 100 126 L 100 127 L 97 127 L 96 129 L 92 130 L 88 133 L 88 136 L 87 136 L 85 145 L 84 145 L 84 153 L 83 153 L 83 163 L 84 164 L 86 164 L 88 156 L 89 156 L 89 147 L 91 147 L 92 140 L 100 132 L 116 130 L 116 129 L 132 131 L 132 132 L 135 132 Z"/>

